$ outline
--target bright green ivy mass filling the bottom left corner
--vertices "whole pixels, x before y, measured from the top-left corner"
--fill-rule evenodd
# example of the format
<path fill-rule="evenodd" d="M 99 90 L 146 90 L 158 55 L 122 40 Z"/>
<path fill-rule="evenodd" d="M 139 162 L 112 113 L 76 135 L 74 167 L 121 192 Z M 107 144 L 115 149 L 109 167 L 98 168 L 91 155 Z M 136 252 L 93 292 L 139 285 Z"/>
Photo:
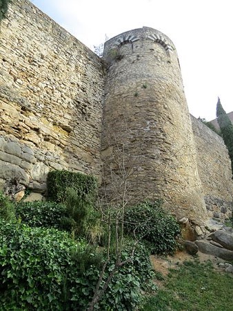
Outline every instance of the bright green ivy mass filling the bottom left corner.
<path fill-rule="evenodd" d="M 83 277 L 81 254 L 86 243 L 75 242 L 67 232 L 30 228 L 0 222 L 0 303 L 3 310 L 75 310 L 74 291 L 80 299 Z M 77 256 L 79 255 L 79 256 Z M 92 255 L 89 254 L 90 265 Z M 96 262 L 96 261 L 95 261 Z M 95 269 L 95 278 L 98 277 Z M 80 307 L 79 301 L 74 303 Z M 80 309 L 79 309 L 80 310 Z"/>

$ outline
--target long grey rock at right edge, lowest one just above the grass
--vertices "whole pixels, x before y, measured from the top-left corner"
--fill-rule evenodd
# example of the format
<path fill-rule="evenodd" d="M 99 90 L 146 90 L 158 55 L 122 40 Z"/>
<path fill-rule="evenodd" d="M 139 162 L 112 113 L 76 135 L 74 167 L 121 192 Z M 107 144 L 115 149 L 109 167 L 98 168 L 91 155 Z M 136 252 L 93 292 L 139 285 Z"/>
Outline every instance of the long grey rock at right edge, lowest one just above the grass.
<path fill-rule="evenodd" d="M 212 254 L 226 261 L 233 260 L 232 250 L 225 250 L 225 248 L 218 248 L 217 246 L 211 245 L 210 243 L 207 243 L 205 241 L 195 241 L 195 243 L 199 248 L 199 251 L 203 252 L 204 254 Z"/>

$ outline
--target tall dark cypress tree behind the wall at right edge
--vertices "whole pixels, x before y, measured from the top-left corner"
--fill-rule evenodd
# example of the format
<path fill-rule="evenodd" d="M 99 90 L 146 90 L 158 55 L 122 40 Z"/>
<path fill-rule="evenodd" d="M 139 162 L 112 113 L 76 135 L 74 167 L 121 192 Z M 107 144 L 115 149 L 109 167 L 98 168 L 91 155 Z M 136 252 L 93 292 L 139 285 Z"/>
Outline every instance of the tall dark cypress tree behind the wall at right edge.
<path fill-rule="evenodd" d="M 221 133 L 223 135 L 223 140 L 225 146 L 227 146 L 230 159 L 232 161 L 232 174 L 233 174 L 233 125 L 227 116 L 223 106 L 221 105 L 220 99 L 218 99 L 216 107 L 216 117 L 219 123 Z"/>

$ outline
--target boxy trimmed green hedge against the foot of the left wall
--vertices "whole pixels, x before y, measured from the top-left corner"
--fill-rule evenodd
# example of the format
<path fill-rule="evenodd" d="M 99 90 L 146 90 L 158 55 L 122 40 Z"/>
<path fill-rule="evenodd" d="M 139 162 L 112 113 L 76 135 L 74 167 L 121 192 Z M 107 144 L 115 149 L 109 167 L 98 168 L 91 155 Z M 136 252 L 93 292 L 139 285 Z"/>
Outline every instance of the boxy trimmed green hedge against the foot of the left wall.
<path fill-rule="evenodd" d="M 83 199 L 87 194 L 94 195 L 97 181 L 93 176 L 68 170 L 53 170 L 48 173 L 47 187 L 49 200 L 65 203 L 67 188 L 74 188 L 79 198 Z"/>

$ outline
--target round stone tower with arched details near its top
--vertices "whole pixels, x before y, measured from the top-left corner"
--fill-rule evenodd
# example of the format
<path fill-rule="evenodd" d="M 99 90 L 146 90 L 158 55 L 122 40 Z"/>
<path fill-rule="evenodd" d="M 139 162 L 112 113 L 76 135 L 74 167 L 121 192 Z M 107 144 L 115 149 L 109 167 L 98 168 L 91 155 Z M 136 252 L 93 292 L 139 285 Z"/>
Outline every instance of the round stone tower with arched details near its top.
<path fill-rule="evenodd" d="M 176 217 L 206 210 L 179 59 L 165 34 L 143 27 L 105 43 L 103 184 L 114 201 L 161 198 Z"/>

